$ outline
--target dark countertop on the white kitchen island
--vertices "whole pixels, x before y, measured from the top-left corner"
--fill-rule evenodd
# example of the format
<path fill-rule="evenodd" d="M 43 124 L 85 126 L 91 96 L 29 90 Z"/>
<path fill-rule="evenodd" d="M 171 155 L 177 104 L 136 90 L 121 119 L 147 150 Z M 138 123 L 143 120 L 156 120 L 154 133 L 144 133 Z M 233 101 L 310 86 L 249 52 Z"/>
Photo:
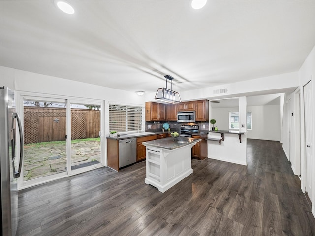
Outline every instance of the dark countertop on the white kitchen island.
<path fill-rule="evenodd" d="M 173 137 L 168 137 L 164 139 L 156 139 L 152 141 L 143 142 L 142 144 L 154 148 L 174 150 L 176 148 L 181 148 L 189 144 L 197 143 L 199 141 L 201 141 L 201 139 L 180 136 L 177 137 L 176 139 L 174 139 Z"/>

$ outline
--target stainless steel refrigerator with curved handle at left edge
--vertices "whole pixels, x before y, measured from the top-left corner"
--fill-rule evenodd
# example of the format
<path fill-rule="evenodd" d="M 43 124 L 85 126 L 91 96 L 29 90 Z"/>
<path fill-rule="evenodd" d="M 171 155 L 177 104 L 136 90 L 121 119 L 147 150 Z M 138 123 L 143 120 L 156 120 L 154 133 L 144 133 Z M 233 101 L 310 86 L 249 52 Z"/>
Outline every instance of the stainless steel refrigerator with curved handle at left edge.
<path fill-rule="evenodd" d="M 17 153 L 17 148 L 19 148 L 19 153 Z M 16 235 L 17 179 L 20 177 L 22 160 L 23 132 L 19 115 L 15 111 L 14 92 L 7 87 L 0 87 L 1 236 Z"/>

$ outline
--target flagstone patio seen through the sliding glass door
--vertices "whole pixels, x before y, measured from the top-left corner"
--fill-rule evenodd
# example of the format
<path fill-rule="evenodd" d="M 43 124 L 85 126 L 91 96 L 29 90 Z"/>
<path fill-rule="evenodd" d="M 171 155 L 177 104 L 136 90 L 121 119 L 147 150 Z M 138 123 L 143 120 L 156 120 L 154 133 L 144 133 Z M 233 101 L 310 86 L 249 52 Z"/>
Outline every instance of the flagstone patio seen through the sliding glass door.
<path fill-rule="evenodd" d="M 100 163 L 100 141 L 71 144 L 72 170 Z M 66 171 L 66 142 L 24 146 L 24 181 Z"/>

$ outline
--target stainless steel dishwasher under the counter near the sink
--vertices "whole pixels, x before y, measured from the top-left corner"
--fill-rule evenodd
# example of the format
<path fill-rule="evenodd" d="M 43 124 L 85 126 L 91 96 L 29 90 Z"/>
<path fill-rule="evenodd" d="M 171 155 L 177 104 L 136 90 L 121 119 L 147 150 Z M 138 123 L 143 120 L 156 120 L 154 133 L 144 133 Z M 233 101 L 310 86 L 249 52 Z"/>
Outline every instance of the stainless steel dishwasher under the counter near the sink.
<path fill-rule="evenodd" d="M 119 168 L 137 160 L 137 138 L 119 140 Z"/>

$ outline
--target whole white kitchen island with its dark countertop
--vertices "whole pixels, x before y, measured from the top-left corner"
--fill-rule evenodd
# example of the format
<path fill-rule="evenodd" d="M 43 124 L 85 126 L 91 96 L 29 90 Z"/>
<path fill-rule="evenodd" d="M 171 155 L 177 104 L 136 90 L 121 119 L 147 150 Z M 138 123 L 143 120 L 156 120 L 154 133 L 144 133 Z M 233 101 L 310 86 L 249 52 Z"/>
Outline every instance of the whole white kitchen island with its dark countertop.
<path fill-rule="evenodd" d="M 192 173 L 191 148 L 197 138 L 164 138 L 143 142 L 146 146 L 147 175 L 144 180 L 162 193 Z"/>

